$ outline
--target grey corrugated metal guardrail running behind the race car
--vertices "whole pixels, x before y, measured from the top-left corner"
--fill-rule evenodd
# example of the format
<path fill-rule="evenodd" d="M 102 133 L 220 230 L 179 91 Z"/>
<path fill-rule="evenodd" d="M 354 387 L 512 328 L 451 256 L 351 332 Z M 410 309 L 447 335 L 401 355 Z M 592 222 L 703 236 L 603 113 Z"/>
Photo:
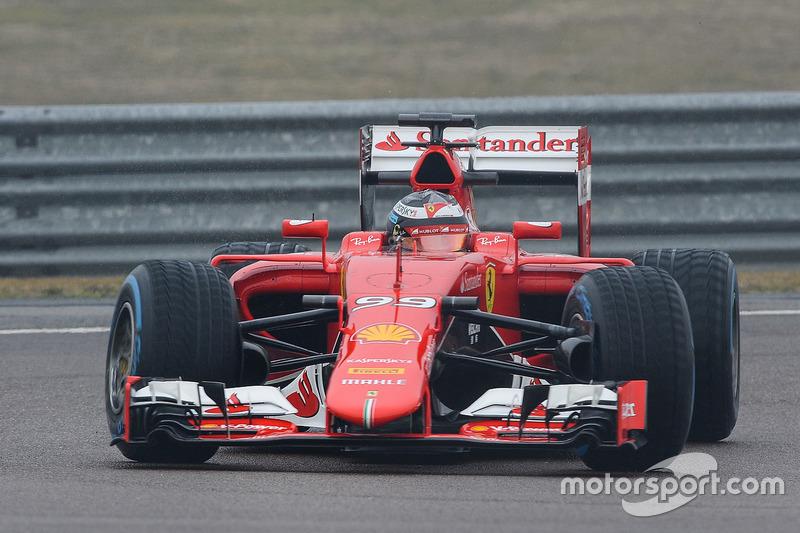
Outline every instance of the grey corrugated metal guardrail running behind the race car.
<path fill-rule="evenodd" d="M 418 111 L 588 125 L 594 255 L 713 247 L 740 264 L 800 265 L 792 92 L 0 108 L 0 274 L 207 260 L 223 242 L 279 239 L 283 218 L 312 213 L 335 241 L 358 225 L 358 128 Z M 378 208 L 403 193 L 387 188 Z M 484 229 L 562 220 L 547 251 L 574 252 L 570 191 L 475 195 Z"/>

